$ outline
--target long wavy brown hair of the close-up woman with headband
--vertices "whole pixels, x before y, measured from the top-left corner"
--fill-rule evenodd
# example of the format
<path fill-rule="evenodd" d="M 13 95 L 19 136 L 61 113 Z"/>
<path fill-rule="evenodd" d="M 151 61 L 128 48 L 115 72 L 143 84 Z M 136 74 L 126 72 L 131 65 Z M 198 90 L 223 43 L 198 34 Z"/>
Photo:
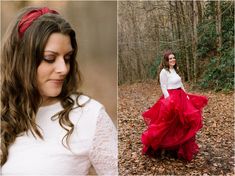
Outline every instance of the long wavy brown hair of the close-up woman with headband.
<path fill-rule="evenodd" d="M 42 103 L 36 73 L 43 59 L 44 49 L 52 33 L 69 35 L 74 53 L 70 59 L 70 71 L 63 84 L 58 99 L 63 110 L 56 114 L 59 124 L 67 132 L 62 139 L 69 146 L 74 125 L 69 120 L 69 112 L 78 104 L 77 92 L 81 84 L 81 74 L 76 61 L 76 34 L 70 24 L 58 14 L 44 14 L 36 19 L 25 31 L 22 38 L 18 35 L 18 23 L 22 16 L 34 9 L 22 9 L 8 27 L 1 48 L 1 165 L 7 161 L 8 150 L 19 135 L 30 131 L 35 138 L 43 138 L 35 122 L 36 114 Z M 74 101 L 71 94 L 77 94 Z M 80 106 L 80 105 L 79 105 Z M 52 117 L 55 119 L 55 117 Z M 66 139 L 66 143 L 64 143 Z"/>

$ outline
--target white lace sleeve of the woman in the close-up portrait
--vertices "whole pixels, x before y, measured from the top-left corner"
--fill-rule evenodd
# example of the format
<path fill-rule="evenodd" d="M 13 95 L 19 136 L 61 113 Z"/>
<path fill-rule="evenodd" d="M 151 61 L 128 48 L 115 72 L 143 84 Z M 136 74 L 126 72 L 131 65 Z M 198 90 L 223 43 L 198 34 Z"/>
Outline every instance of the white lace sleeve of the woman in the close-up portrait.
<path fill-rule="evenodd" d="M 117 131 L 110 117 L 102 108 L 89 154 L 98 175 L 118 175 Z"/>

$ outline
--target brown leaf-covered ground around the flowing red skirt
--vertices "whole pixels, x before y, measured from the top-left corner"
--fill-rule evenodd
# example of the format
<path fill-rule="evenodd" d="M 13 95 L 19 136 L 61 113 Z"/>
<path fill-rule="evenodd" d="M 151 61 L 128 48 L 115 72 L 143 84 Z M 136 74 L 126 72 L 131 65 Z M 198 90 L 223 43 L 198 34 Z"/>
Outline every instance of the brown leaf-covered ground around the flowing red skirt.
<path fill-rule="evenodd" d="M 206 95 L 203 128 L 197 134 L 199 153 L 191 162 L 168 155 L 150 158 L 141 154 L 141 134 L 146 125 L 142 112 L 162 95 L 156 81 L 119 86 L 118 140 L 119 175 L 235 175 L 234 173 L 234 93 L 212 91 Z"/>

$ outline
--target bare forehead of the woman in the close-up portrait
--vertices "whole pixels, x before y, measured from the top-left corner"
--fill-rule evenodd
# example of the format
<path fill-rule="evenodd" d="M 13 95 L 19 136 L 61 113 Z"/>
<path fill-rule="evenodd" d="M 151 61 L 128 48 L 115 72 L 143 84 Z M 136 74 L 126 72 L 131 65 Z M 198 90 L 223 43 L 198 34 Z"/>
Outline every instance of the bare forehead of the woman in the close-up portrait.
<path fill-rule="evenodd" d="M 58 53 L 66 53 L 73 50 L 69 35 L 62 33 L 53 33 L 47 40 L 44 51 L 54 51 Z"/>

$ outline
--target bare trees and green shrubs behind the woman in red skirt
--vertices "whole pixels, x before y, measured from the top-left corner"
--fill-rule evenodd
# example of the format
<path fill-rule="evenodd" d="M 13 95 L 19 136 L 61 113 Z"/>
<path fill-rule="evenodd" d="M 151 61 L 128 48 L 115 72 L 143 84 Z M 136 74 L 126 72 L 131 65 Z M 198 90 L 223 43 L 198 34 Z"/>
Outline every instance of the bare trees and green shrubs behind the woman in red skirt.
<path fill-rule="evenodd" d="M 233 1 L 118 2 L 119 85 L 155 79 L 171 49 L 184 81 L 233 89 Z"/>

